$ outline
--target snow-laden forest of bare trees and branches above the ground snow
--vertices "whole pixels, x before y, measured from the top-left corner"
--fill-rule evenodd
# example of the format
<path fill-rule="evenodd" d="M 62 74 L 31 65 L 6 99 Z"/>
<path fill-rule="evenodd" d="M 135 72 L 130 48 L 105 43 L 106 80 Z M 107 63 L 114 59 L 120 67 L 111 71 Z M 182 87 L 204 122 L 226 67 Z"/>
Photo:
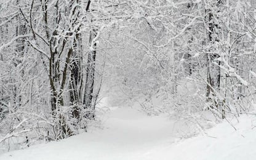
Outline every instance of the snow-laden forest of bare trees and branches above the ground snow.
<path fill-rule="evenodd" d="M 256 115 L 255 0 L 1 0 L 0 33 L 0 153 L 111 106 L 185 119 L 182 137 Z"/>

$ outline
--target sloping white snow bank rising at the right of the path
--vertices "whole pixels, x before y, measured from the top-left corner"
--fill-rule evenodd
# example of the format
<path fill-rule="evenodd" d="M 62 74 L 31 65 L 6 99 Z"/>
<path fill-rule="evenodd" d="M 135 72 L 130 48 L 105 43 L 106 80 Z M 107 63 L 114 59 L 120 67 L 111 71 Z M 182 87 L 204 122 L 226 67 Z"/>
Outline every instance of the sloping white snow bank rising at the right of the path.
<path fill-rule="evenodd" d="M 254 129 L 256 121 L 254 119 L 255 116 L 242 116 L 239 123 L 234 120 L 236 130 L 228 122 L 218 124 L 208 130 L 206 136 L 155 148 L 145 159 L 256 159 L 256 129 Z"/>

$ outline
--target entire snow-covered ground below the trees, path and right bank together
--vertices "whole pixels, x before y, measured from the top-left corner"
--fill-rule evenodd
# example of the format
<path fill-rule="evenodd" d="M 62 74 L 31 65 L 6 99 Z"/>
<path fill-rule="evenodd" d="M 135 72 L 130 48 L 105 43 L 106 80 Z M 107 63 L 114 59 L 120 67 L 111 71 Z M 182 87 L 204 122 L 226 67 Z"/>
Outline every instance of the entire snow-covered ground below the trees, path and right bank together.
<path fill-rule="evenodd" d="M 253 119 L 242 116 L 239 123 L 232 121 L 236 130 L 223 122 L 204 135 L 180 139 L 183 122 L 115 108 L 106 115 L 103 129 L 4 153 L 0 159 L 256 159 Z"/>

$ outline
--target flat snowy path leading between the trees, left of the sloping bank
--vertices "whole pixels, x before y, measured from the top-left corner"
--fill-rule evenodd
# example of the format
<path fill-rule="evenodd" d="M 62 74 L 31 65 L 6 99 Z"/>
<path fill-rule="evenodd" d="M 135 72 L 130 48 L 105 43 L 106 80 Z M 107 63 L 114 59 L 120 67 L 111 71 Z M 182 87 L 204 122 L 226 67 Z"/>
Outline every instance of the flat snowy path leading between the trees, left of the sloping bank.
<path fill-rule="evenodd" d="M 103 130 L 12 151 L 0 159 L 143 159 L 156 146 L 174 140 L 174 124 L 166 118 L 146 116 L 131 108 L 118 108 L 107 116 Z"/>

